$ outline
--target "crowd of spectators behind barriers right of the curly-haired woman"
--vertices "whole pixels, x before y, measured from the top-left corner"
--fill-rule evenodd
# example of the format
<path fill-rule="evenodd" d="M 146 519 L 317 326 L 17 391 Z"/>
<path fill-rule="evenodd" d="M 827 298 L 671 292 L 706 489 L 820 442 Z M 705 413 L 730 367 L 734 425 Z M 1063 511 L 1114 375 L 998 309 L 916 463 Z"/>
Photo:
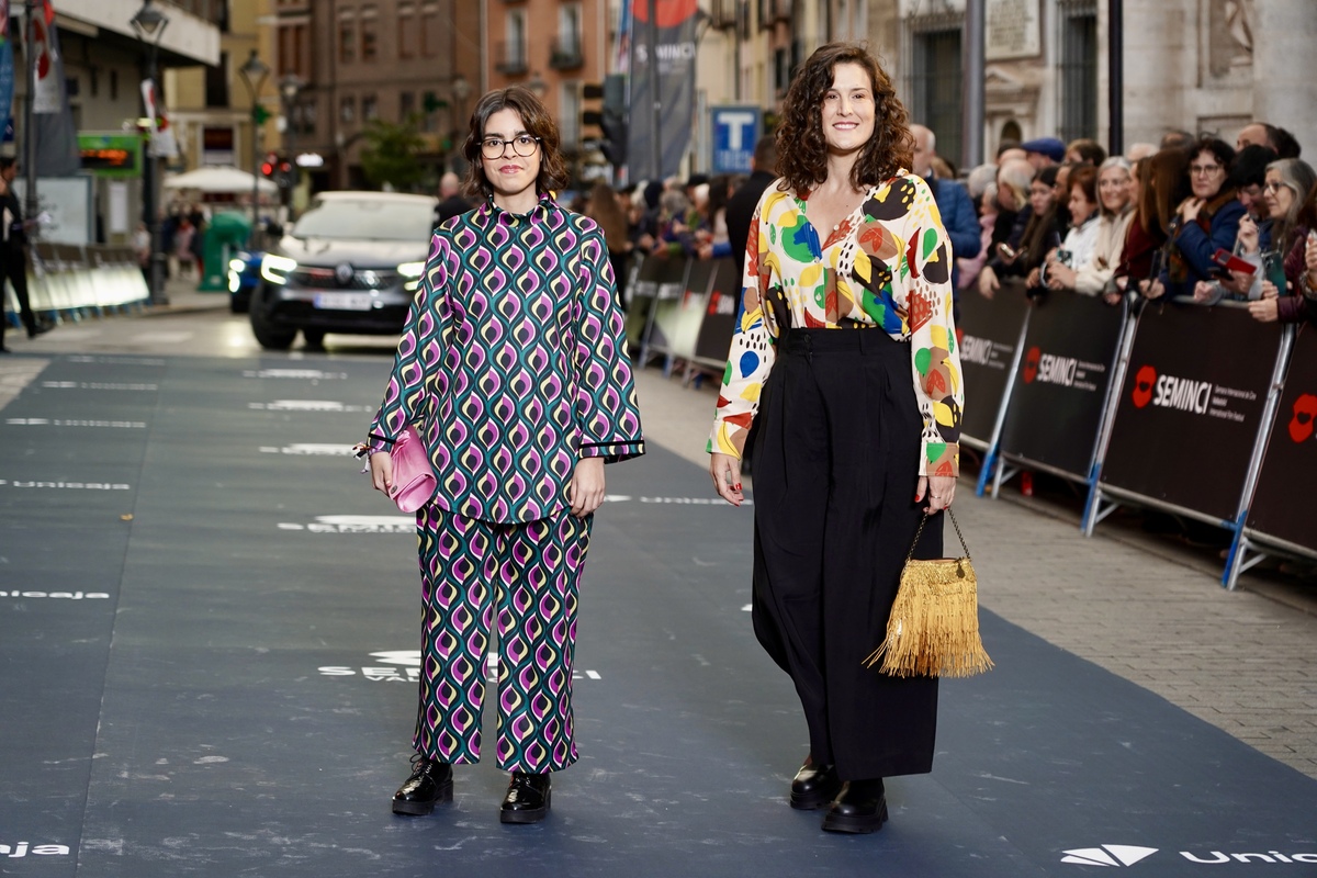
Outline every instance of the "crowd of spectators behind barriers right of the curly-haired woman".
<path fill-rule="evenodd" d="M 1317 321 L 1317 174 L 1283 128 L 1234 146 L 1168 133 L 1108 157 L 1094 141 L 1004 143 L 965 184 L 981 253 L 957 247 L 960 291 L 1005 278 L 1048 291 L 1247 303 L 1260 321 Z"/>

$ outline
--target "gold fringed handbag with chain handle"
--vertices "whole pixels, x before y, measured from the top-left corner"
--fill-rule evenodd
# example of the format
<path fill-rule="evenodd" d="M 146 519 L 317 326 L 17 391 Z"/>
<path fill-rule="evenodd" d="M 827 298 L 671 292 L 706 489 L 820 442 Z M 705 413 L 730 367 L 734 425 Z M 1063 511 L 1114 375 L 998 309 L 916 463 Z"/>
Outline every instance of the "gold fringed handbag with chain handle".
<path fill-rule="evenodd" d="M 979 637 L 979 581 L 969 549 L 950 508 L 947 515 L 964 557 L 914 558 L 926 512 L 901 570 L 886 638 L 864 659 L 865 667 L 881 659 L 882 673 L 893 677 L 973 677 L 993 666 Z"/>

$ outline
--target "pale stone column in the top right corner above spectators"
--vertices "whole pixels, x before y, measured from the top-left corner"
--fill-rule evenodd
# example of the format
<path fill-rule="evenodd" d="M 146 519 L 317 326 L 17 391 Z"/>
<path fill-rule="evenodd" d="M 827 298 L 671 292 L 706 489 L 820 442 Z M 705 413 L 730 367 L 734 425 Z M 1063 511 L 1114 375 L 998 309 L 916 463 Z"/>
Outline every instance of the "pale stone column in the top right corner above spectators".
<path fill-rule="evenodd" d="M 1252 117 L 1299 138 L 1317 159 L 1317 3 L 1258 0 L 1252 25 Z"/>

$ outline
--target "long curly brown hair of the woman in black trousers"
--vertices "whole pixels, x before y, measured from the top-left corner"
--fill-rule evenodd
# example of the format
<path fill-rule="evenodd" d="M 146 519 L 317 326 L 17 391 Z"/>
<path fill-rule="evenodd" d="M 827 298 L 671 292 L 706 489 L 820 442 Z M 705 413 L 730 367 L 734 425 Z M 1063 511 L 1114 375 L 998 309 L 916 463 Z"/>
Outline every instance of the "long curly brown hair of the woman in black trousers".
<path fill-rule="evenodd" d="M 823 137 L 823 97 L 832 87 L 838 65 L 859 65 L 873 83 L 873 137 L 851 168 L 851 186 L 868 188 L 896 176 L 914 163 L 914 136 L 909 115 L 892 79 L 864 46 L 830 42 L 819 46 L 795 74 L 782 105 L 777 129 L 777 171 L 797 192 L 827 179 L 827 141 Z"/>

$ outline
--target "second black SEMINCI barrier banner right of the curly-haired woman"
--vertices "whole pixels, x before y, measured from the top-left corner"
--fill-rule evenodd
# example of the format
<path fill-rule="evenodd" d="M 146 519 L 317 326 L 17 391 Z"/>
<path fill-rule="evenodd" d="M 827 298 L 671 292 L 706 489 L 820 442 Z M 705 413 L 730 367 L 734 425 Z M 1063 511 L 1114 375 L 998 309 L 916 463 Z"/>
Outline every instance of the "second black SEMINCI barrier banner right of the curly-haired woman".
<path fill-rule="evenodd" d="M 1089 480 L 1126 313 L 1123 303 L 1113 308 L 1073 292 L 1035 300 L 1001 430 L 1002 454 Z"/>

